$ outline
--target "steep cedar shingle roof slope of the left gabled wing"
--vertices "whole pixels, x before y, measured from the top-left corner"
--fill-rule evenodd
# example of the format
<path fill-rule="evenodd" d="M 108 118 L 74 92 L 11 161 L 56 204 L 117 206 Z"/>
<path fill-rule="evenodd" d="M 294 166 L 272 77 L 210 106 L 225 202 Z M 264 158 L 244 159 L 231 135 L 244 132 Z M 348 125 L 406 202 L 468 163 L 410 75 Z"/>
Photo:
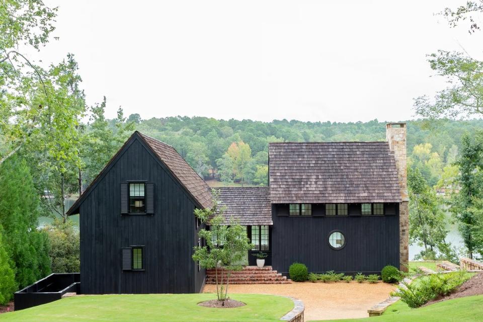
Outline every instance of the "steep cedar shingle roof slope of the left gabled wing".
<path fill-rule="evenodd" d="M 173 146 L 142 133 L 139 135 L 202 207 L 211 208 L 213 206 L 209 186 Z"/>

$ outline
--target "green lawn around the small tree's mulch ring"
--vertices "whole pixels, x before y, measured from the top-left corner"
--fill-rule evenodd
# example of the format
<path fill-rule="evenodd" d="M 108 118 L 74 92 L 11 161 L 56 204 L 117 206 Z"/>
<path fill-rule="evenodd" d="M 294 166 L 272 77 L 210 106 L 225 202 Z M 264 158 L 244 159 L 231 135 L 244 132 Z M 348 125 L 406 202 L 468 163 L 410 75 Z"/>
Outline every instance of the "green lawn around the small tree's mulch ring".
<path fill-rule="evenodd" d="M 0 321 L 275 321 L 293 308 L 289 298 L 233 294 L 247 305 L 210 308 L 197 303 L 215 294 L 86 295 L 0 314 Z"/>

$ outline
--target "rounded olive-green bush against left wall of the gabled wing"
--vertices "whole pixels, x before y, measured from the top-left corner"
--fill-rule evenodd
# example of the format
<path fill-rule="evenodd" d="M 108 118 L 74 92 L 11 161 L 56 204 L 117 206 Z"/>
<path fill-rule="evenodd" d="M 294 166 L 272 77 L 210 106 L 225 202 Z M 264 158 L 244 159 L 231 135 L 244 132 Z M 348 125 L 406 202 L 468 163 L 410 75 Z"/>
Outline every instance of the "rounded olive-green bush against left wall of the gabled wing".
<path fill-rule="evenodd" d="M 52 259 L 52 272 L 80 272 L 80 238 L 72 221 L 63 222 L 56 218 L 43 230 L 48 234 L 50 240 L 49 256 Z"/>

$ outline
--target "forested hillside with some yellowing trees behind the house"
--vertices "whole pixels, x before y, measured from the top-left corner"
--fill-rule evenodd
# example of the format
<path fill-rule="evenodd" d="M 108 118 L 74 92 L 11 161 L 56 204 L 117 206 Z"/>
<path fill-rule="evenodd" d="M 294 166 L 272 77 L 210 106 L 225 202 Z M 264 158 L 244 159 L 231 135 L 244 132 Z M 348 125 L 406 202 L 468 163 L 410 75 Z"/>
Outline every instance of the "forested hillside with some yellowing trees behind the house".
<path fill-rule="evenodd" d="M 268 143 L 278 141 L 380 141 L 385 140 L 385 123 L 302 122 L 297 120 L 216 120 L 206 117 L 166 117 L 142 120 L 131 114 L 140 132 L 173 145 L 195 171 L 206 180 L 223 185 L 266 185 Z M 461 147 L 464 133 L 483 127 L 483 120 L 408 123 L 410 165 L 417 166 L 434 186 Z M 210 184 L 213 182 L 210 180 Z"/>

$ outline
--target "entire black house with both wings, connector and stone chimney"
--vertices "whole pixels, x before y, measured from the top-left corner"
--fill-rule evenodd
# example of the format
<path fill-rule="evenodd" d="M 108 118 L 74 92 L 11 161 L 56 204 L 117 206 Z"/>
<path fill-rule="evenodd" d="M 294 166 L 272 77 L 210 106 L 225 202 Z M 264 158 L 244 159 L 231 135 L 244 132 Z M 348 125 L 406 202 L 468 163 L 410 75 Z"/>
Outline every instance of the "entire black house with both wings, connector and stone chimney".
<path fill-rule="evenodd" d="M 266 265 L 288 272 L 377 273 L 408 263 L 406 124 L 386 142 L 269 145 L 269 187 L 220 188 Z M 218 189 L 217 189 L 218 190 Z M 81 292 L 191 293 L 205 280 L 195 208 L 210 188 L 176 150 L 135 132 L 68 214 L 80 214 Z"/>

